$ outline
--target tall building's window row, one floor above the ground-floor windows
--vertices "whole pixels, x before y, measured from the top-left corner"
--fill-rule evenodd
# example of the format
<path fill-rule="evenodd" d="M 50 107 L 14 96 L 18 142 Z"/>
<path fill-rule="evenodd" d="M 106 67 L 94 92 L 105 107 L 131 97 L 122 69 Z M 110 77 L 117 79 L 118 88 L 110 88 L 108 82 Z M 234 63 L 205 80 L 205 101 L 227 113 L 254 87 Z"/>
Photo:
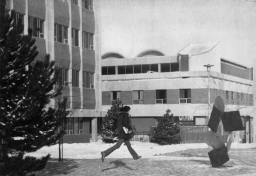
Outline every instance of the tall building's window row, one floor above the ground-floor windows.
<path fill-rule="evenodd" d="M 58 70 L 58 86 L 68 86 L 68 69 L 56 67 Z M 83 71 L 83 87 L 84 88 L 94 88 L 93 84 L 94 73 L 90 71 Z M 72 70 L 72 87 L 79 87 L 79 70 Z"/>

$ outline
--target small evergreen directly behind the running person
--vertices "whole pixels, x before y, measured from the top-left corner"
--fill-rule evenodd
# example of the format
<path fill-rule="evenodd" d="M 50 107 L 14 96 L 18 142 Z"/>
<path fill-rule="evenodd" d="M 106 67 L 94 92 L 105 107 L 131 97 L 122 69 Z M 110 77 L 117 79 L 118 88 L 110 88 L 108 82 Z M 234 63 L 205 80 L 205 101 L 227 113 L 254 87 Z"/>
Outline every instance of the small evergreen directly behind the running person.
<path fill-rule="evenodd" d="M 100 129 L 100 136 L 102 137 L 102 141 L 106 143 L 114 143 L 118 139 L 117 134 L 117 118 L 120 108 L 122 108 L 122 102 L 118 99 L 117 101 L 113 101 L 111 108 L 108 110 L 105 115 L 102 126 Z M 131 115 L 129 115 L 130 124 L 131 124 Z M 131 124 L 132 126 L 132 124 Z M 136 129 L 135 126 L 132 126 L 132 135 L 134 135 Z"/>

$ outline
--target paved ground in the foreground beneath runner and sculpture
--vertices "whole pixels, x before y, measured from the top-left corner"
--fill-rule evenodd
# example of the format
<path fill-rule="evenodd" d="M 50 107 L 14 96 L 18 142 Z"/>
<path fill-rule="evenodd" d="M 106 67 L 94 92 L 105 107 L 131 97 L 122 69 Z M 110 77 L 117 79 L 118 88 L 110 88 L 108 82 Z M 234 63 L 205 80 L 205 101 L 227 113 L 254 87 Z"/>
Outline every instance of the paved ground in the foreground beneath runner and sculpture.
<path fill-rule="evenodd" d="M 152 156 L 152 158 L 51 159 L 36 175 L 256 175 L 256 149 L 231 149 L 230 161 L 212 168 L 207 152 L 211 149 L 189 149 Z M 128 152 L 128 151 L 127 151 Z"/>

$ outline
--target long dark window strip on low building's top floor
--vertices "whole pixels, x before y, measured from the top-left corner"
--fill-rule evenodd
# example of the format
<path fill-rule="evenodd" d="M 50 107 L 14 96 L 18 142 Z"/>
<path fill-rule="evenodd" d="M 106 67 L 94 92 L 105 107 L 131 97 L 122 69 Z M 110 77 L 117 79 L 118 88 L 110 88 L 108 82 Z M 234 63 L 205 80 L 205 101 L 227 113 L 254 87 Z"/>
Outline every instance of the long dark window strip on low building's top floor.
<path fill-rule="evenodd" d="M 102 75 L 115 75 L 117 74 L 136 74 L 136 73 L 152 73 L 152 72 L 173 72 L 179 71 L 179 63 L 163 63 L 160 64 L 140 64 L 140 65 L 127 65 L 127 66 L 102 66 Z"/>

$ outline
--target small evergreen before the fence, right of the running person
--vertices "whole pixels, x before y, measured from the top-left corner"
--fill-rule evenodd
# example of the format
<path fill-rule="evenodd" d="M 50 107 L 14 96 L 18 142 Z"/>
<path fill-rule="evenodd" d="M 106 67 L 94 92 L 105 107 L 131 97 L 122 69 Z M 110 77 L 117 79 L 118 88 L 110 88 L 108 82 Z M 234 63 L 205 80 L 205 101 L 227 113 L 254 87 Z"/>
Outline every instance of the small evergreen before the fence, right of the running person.
<path fill-rule="evenodd" d="M 151 142 L 156 142 L 160 145 L 180 143 L 180 126 L 174 122 L 173 114 L 170 115 L 170 112 L 171 110 L 166 110 L 166 114 L 164 114 L 163 117 L 159 117 L 159 119 L 157 119 L 158 124 L 154 129 Z"/>

